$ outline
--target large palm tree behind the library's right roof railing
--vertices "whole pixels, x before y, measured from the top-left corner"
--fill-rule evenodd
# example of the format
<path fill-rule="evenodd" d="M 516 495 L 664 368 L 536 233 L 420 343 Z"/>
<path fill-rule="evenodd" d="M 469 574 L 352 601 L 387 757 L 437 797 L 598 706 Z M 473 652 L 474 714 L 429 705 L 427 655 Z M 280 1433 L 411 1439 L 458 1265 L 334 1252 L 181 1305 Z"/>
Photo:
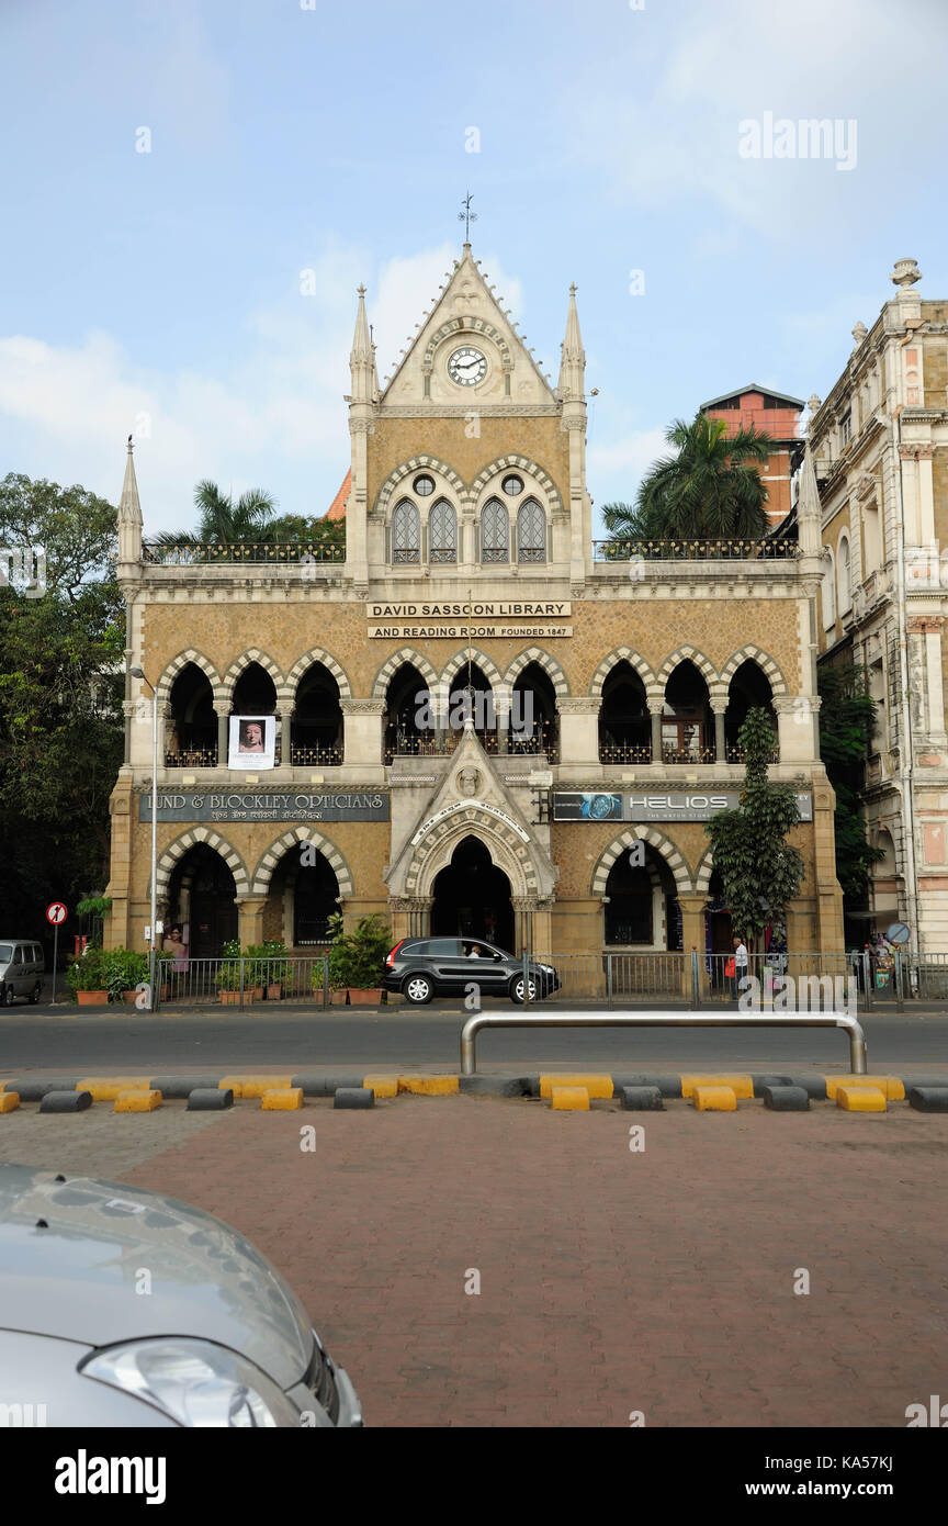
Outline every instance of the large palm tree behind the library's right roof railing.
<path fill-rule="evenodd" d="M 754 470 L 771 438 L 751 424 L 727 433 L 721 418 L 677 418 L 665 432 L 675 455 L 663 456 L 639 485 L 634 507 L 607 504 L 611 540 L 754 540 L 767 528 L 767 488 Z"/>

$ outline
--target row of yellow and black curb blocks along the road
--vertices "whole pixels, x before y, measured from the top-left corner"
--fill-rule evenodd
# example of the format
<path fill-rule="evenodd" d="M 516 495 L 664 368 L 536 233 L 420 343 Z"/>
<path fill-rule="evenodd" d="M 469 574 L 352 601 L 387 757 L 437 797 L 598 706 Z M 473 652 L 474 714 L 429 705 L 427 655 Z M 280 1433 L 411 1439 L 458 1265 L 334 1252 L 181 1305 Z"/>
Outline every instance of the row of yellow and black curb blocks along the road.
<path fill-rule="evenodd" d="M 319 1100 L 343 1111 L 367 1111 L 401 1097 L 535 1099 L 555 1112 L 590 1112 L 616 1102 L 628 1112 L 668 1111 L 680 1102 L 695 1112 L 739 1112 L 764 1105 L 771 1112 L 806 1112 L 828 1103 L 843 1112 L 887 1112 L 902 1103 L 916 1112 L 948 1112 L 948 1077 L 928 1076 L 793 1076 L 744 1071 L 642 1074 L 616 1071 L 541 1071 L 540 1074 L 444 1076 L 363 1071 L 303 1071 L 224 1076 L 62 1076 L 53 1080 L 6 1077 L 0 1082 L 0 1117 L 38 1103 L 40 1112 L 84 1112 L 111 1103 L 113 1112 L 154 1112 L 172 1102 L 186 1111 L 223 1112 L 250 1103 L 262 1112 L 296 1112 Z"/>

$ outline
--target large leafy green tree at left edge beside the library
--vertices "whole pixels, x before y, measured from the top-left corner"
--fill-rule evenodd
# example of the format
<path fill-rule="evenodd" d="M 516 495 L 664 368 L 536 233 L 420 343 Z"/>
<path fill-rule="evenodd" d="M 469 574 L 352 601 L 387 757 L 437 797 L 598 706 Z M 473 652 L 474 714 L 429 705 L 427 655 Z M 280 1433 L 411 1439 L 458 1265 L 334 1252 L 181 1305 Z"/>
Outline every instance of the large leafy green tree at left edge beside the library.
<path fill-rule="evenodd" d="M 0 589 L 0 925 L 37 934 L 108 879 L 108 797 L 122 763 L 125 603 L 116 510 L 81 487 L 11 473 L 0 543 L 44 546 L 47 591 Z"/>

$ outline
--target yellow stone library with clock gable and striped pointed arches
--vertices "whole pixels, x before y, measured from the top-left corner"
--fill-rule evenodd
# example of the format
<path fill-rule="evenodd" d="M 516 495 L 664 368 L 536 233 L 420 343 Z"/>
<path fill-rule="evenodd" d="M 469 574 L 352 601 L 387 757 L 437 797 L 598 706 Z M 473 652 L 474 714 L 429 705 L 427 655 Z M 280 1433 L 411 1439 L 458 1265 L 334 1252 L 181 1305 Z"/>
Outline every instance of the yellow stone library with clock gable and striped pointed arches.
<path fill-rule="evenodd" d="M 736 803 L 754 703 L 805 813 L 791 948 L 841 948 L 818 511 L 799 546 L 594 545 L 575 290 L 561 353 L 553 385 L 465 246 L 383 386 L 360 290 L 344 560 L 142 546 L 130 456 L 128 665 L 159 693 L 157 894 L 192 958 L 238 932 L 319 946 L 337 905 L 393 938 L 724 946 L 703 823 Z M 125 710 L 108 938 L 142 946 L 152 736 L 133 678 Z"/>

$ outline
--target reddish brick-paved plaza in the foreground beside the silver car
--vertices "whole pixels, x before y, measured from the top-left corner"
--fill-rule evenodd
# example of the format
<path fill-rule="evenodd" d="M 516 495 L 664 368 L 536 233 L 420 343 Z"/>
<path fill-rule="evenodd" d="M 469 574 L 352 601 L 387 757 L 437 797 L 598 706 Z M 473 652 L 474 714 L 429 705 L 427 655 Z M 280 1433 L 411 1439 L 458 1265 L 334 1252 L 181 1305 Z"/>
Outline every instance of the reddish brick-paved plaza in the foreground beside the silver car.
<path fill-rule="evenodd" d="M 640 1410 L 649 1427 L 904 1427 L 945 1387 L 948 1117 L 666 1106 L 23 1108 L 0 1149 L 244 1230 L 369 1425 L 626 1427 Z"/>

